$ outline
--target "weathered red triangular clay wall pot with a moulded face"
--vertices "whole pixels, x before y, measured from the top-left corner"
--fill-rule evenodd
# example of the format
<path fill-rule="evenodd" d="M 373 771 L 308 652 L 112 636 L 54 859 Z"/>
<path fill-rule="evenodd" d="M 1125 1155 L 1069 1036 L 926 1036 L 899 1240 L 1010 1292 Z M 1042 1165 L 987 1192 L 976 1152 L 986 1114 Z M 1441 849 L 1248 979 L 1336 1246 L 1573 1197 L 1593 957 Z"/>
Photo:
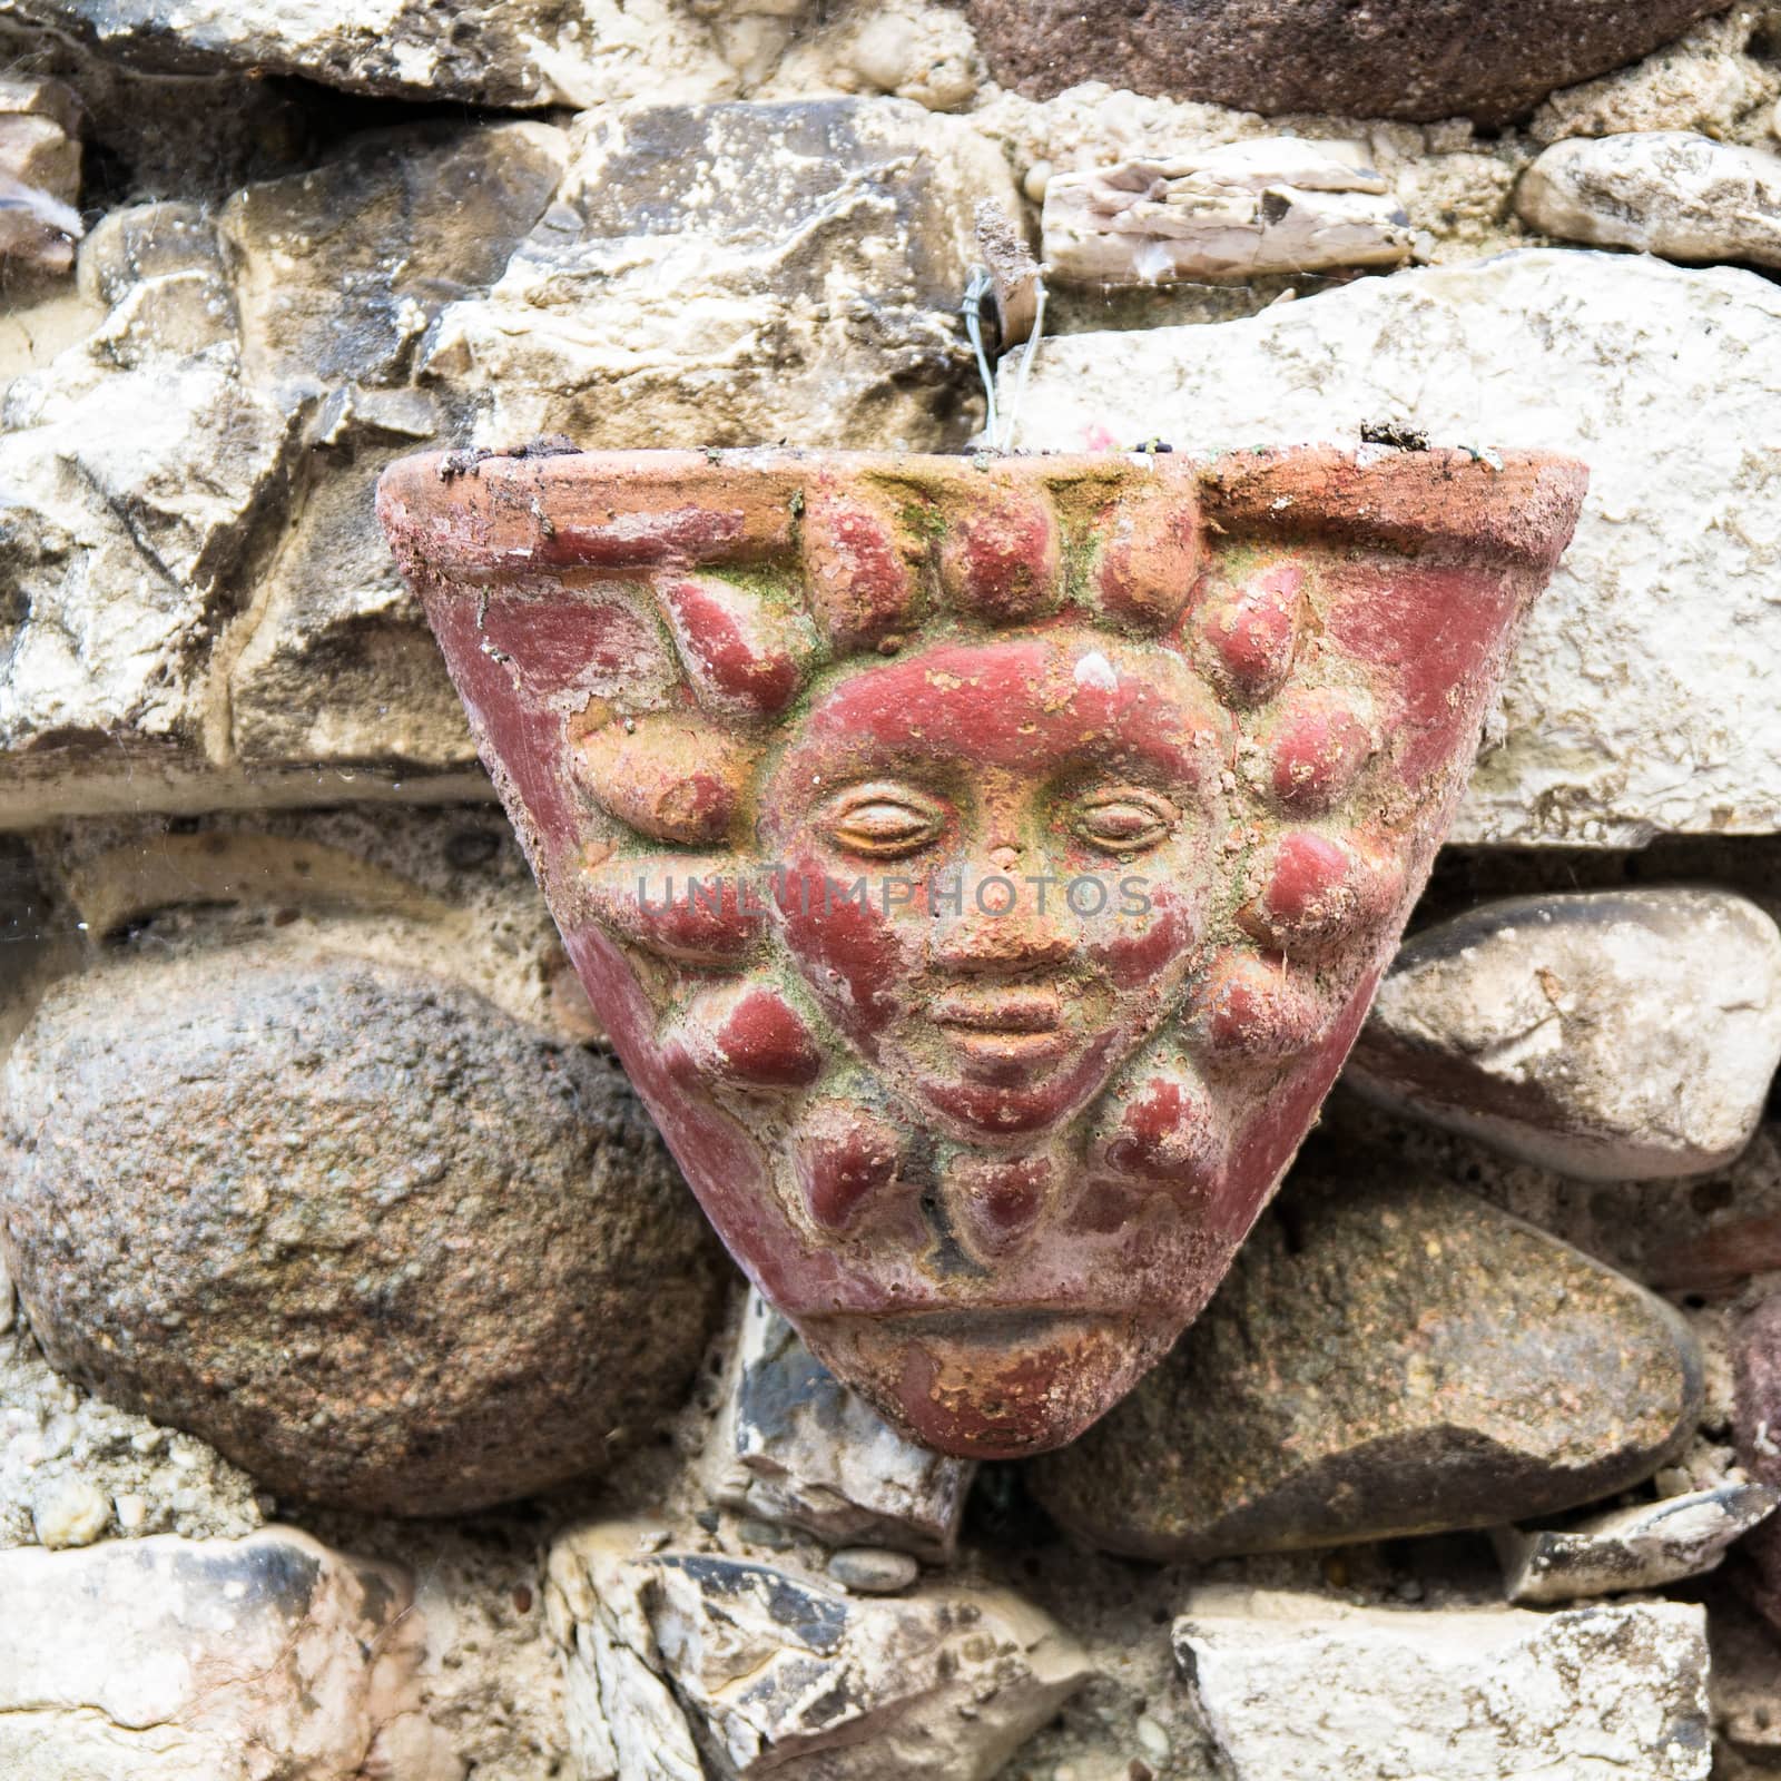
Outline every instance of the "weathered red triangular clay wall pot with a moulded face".
<path fill-rule="evenodd" d="M 426 456 L 379 513 L 730 1252 L 917 1441 L 1058 1446 L 1316 1117 L 1567 459 Z"/>

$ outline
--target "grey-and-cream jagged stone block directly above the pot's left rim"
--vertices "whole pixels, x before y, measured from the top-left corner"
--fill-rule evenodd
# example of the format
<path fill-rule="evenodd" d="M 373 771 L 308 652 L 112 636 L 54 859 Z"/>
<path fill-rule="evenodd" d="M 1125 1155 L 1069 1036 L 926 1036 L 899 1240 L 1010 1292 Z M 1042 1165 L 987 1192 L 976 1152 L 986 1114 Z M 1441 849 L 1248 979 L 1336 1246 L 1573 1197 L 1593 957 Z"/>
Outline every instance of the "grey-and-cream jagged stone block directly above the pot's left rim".
<path fill-rule="evenodd" d="M 483 445 L 960 445 L 981 198 L 1015 207 L 1001 153 L 903 100 L 590 116 L 426 374 Z"/>

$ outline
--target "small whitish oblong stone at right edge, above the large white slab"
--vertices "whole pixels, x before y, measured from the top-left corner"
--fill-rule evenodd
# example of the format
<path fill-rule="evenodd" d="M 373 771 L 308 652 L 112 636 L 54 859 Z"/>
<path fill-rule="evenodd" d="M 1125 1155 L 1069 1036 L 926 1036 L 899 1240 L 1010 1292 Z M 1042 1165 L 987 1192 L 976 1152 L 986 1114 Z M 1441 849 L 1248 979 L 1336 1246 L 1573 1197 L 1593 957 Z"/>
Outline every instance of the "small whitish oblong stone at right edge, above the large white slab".
<path fill-rule="evenodd" d="M 1562 240 L 1781 265 L 1781 155 L 1685 130 L 1555 142 L 1521 176 L 1516 208 Z"/>

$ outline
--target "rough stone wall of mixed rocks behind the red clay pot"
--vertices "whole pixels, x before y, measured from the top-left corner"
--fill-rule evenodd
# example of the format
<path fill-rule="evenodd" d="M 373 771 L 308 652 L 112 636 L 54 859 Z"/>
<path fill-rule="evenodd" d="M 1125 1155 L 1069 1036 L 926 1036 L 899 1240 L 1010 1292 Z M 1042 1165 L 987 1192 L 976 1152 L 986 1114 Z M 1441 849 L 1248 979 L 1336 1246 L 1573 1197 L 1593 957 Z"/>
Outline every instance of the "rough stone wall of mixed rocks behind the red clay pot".
<path fill-rule="evenodd" d="M 1781 9 L 0 0 L 0 1772 L 1781 1772 Z M 1017 449 L 1594 481 L 1234 1273 L 974 1471 L 711 1238 L 370 493 L 962 449 L 985 201 Z"/>

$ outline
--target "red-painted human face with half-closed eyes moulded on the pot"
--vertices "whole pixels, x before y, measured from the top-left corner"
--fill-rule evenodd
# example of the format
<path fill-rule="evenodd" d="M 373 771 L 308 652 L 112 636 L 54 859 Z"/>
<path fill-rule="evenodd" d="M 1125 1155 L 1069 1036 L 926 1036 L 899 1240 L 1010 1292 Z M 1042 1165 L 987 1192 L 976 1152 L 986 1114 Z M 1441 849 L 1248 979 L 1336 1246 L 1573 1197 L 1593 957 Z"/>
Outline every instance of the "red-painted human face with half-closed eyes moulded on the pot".
<path fill-rule="evenodd" d="M 942 1127 L 1056 1124 L 1191 965 L 1222 744 L 1202 689 L 1099 632 L 857 670 L 762 801 L 787 951 Z"/>

